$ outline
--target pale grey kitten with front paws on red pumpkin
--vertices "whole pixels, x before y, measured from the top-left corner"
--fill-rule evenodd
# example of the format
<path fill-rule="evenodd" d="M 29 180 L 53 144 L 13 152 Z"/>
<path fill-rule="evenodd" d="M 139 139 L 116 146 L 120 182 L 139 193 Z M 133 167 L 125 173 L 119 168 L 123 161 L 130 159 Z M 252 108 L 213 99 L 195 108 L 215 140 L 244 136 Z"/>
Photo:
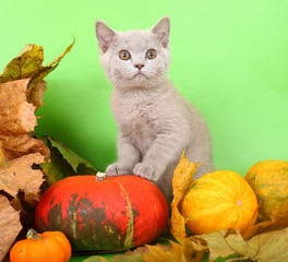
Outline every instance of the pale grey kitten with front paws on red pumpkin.
<path fill-rule="evenodd" d="M 136 175 L 156 183 L 172 200 L 172 175 L 182 151 L 202 163 L 194 178 L 213 171 L 205 121 L 166 78 L 169 17 L 151 31 L 115 32 L 96 22 L 100 63 L 113 85 L 111 108 L 119 128 L 118 162 L 108 176 Z"/>

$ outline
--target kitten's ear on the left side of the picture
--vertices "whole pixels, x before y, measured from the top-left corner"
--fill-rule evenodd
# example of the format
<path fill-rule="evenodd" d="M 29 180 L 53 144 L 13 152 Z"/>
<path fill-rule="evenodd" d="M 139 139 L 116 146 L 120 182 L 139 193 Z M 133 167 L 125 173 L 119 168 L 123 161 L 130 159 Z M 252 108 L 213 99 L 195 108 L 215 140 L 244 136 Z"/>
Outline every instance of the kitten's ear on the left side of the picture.
<path fill-rule="evenodd" d="M 95 29 L 98 39 L 98 45 L 101 48 L 101 50 L 106 52 L 117 34 L 113 29 L 111 29 L 108 25 L 106 25 L 104 22 L 99 20 L 96 21 Z"/>

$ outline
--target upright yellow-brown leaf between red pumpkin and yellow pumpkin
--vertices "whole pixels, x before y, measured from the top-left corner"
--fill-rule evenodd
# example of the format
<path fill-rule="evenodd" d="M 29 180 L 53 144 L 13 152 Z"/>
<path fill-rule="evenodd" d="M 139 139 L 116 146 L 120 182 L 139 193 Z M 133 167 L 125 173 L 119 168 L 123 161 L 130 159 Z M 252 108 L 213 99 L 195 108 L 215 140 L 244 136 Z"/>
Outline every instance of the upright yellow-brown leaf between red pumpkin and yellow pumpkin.
<path fill-rule="evenodd" d="M 184 152 L 180 158 L 178 166 L 173 172 L 172 186 L 173 186 L 173 200 L 171 203 L 171 225 L 170 233 L 173 237 L 181 242 L 185 234 L 185 219 L 179 212 L 179 204 L 182 201 L 190 184 L 194 181 L 193 175 L 200 164 L 194 164 L 184 158 Z"/>

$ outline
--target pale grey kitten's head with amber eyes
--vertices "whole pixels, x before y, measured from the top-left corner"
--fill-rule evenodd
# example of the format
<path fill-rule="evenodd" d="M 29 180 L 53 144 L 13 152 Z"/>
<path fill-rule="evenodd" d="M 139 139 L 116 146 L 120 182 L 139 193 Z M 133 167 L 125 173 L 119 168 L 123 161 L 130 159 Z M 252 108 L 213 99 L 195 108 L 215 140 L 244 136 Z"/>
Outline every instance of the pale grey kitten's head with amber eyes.
<path fill-rule="evenodd" d="M 100 62 L 117 88 L 159 85 L 170 62 L 169 17 L 161 19 L 151 31 L 115 32 L 96 22 Z"/>

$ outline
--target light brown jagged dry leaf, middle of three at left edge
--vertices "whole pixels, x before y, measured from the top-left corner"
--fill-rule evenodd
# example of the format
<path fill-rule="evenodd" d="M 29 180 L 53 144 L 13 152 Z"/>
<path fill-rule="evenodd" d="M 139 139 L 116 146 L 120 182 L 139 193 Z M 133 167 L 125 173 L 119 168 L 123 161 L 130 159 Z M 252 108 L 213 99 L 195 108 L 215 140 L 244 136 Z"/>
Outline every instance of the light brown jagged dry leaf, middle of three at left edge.
<path fill-rule="evenodd" d="M 29 198 L 35 195 L 37 199 L 39 187 L 44 179 L 38 169 L 32 169 L 32 165 L 44 162 L 44 156 L 39 153 L 25 155 L 8 162 L 9 168 L 0 167 L 0 190 L 16 196 L 19 190 Z"/>

